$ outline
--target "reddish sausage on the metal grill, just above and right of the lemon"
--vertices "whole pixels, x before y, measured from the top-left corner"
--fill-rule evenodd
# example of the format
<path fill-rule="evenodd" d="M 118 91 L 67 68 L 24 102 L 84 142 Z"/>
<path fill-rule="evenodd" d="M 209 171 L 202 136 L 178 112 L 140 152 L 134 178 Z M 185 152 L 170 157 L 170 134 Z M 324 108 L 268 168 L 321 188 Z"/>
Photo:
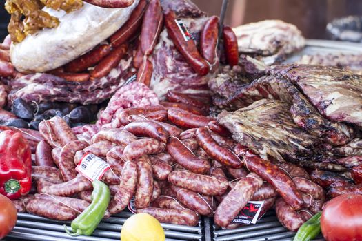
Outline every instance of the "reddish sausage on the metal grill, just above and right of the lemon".
<path fill-rule="evenodd" d="M 154 216 L 159 222 L 195 226 L 199 222 L 199 217 L 190 209 L 160 209 L 157 207 L 148 207 L 138 209 L 137 213 L 148 213 Z"/>

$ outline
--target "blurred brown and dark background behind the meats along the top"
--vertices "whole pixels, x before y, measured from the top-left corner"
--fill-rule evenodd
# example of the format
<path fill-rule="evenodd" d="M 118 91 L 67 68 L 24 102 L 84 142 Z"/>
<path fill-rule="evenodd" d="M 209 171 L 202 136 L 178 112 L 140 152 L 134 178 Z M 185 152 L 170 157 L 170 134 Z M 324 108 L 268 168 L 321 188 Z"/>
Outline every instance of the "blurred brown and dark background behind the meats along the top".
<path fill-rule="evenodd" d="M 177 0 L 175 0 L 177 1 Z M 210 14 L 220 13 L 222 0 L 193 0 Z M 2 3 L 4 1 L 1 1 Z M 310 39 L 328 39 L 325 26 L 336 17 L 362 15 L 362 0 L 230 0 L 225 23 L 232 26 L 281 19 L 296 25 Z M 0 8 L 0 39 L 6 36 L 9 14 Z"/>

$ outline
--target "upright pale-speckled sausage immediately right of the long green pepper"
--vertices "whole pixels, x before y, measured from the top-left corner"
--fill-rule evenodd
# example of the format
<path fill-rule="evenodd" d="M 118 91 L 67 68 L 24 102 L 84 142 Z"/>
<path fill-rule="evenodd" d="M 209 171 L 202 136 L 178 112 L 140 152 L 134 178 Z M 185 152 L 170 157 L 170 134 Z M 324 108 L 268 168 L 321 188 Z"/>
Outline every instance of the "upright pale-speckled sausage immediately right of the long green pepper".
<path fill-rule="evenodd" d="M 137 187 L 137 165 L 133 162 L 125 163 L 122 175 L 119 177 L 120 185 L 114 198 L 110 201 L 110 213 L 119 213 L 127 207 Z"/>

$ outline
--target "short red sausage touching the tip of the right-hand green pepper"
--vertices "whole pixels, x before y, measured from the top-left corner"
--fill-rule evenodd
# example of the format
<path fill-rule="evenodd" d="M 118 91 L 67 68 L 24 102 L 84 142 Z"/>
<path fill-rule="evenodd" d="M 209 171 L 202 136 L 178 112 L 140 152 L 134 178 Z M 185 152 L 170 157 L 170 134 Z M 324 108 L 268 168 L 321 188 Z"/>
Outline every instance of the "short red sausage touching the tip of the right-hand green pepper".
<path fill-rule="evenodd" d="M 289 207 L 283 198 L 276 199 L 275 211 L 279 222 L 290 231 L 297 231 L 304 223 L 299 213 Z"/>

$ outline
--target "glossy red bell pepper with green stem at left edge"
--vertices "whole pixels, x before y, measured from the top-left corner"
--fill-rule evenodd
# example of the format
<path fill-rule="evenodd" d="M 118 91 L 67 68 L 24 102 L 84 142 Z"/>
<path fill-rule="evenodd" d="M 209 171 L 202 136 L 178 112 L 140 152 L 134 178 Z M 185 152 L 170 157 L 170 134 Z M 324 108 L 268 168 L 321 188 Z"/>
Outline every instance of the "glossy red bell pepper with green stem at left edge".
<path fill-rule="evenodd" d="M 28 142 L 20 132 L 0 133 L 0 193 L 15 200 L 32 187 L 32 158 Z"/>

